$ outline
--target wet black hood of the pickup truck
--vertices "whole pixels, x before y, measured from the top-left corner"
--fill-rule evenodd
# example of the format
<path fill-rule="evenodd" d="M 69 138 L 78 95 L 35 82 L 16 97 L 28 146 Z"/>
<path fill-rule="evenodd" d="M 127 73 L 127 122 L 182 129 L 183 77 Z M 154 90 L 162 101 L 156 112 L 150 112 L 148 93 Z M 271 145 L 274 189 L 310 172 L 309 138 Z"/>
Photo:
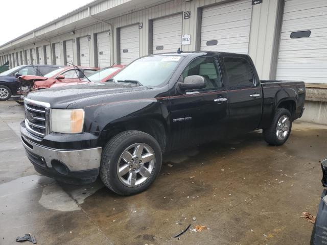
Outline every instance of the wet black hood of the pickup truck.
<path fill-rule="evenodd" d="M 127 97 L 135 96 L 133 93 L 139 93 L 142 90 L 148 90 L 148 88 L 126 83 L 87 83 L 38 90 L 30 92 L 27 98 L 50 103 L 51 108 L 66 109 L 71 104 L 75 104 L 77 108 L 83 108 L 83 106 L 99 103 L 126 101 Z"/>

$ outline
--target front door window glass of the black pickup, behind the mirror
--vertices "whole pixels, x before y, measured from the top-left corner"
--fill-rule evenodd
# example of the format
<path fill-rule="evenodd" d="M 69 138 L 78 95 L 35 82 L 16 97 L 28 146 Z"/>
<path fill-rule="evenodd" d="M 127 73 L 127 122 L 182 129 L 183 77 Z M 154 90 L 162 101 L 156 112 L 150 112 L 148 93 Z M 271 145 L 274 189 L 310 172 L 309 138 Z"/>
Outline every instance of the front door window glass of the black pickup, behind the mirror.
<path fill-rule="evenodd" d="M 220 71 L 214 57 L 200 57 L 191 61 L 188 67 L 183 71 L 182 76 L 184 79 L 192 75 L 204 77 L 206 81 L 206 87 L 204 89 L 223 87 Z"/>

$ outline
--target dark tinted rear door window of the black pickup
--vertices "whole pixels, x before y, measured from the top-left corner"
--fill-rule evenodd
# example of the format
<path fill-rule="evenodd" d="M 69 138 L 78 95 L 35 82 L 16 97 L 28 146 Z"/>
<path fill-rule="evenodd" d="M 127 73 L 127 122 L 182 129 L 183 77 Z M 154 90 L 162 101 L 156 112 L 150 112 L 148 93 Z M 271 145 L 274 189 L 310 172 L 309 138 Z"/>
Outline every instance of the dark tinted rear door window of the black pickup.
<path fill-rule="evenodd" d="M 255 81 L 249 62 L 243 58 L 225 57 L 229 88 L 254 87 Z"/>

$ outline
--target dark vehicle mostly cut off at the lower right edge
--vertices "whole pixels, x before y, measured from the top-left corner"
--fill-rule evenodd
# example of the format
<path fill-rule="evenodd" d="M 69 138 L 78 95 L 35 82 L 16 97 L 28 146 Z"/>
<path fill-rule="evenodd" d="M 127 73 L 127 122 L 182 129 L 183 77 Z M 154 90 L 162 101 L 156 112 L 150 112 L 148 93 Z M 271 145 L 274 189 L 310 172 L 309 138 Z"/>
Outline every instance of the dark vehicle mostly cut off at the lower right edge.
<path fill-rule="evenodd" d="M 322 186 L 327 188 L 327 159 L 321 161 Z M 316 222 L 312 229 L 310 245 L 327 244 L 327 189 L 323 189 Z"/>

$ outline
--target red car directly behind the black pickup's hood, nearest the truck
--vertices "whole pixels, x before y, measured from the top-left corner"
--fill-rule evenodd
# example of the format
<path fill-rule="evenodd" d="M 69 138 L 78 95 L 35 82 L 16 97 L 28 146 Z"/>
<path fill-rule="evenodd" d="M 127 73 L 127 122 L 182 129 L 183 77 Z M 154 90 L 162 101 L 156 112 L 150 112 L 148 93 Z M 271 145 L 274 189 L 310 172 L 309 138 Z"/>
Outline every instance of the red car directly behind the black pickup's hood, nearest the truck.
<path fill-rule="evenodd" d="M 107 82 L 110 78 L 114 75 L 118 74 L 125 65 L 113 65 L 110 67 L 102 68 L 94 74 L 90 75 L 87 78 L 82 80 L 80 79 L 65 79 L 64 82 L 56 82 L 55 84 L 51 85 L 50 87 L 62 87 L 62 86 L 69 86 L 69 85 L 76 85 L 76 84 L 85 84 L 85 83 L 104 83 Z"/>

